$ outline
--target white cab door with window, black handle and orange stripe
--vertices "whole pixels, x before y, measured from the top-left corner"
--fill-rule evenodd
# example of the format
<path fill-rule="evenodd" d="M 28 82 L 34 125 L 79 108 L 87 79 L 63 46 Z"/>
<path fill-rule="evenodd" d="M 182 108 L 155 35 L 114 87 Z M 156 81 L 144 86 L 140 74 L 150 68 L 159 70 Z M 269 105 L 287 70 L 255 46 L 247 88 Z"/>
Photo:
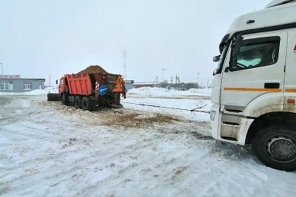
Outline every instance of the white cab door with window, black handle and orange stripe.
<path fill-rule="evenodd" d="M 237 61 L 230 64 L 229 47 L 220 93 L 220 112 L 243 112 L 256 97 L 283 92 L 287 32 L 243 35 Z"/>

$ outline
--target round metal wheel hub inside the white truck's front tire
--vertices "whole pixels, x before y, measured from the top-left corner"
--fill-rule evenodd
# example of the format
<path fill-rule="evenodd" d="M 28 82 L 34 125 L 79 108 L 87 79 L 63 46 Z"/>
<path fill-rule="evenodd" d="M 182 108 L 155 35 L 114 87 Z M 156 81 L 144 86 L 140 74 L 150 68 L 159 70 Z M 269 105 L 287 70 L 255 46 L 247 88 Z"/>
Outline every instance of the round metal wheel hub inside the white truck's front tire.
<path fill-rule="evenodd" d="M 295 141 L 286 136 L 275 136 L 269 138 L 266 143 L 267 152 L 279 162 L 290 162 L 296 159 Z"/>

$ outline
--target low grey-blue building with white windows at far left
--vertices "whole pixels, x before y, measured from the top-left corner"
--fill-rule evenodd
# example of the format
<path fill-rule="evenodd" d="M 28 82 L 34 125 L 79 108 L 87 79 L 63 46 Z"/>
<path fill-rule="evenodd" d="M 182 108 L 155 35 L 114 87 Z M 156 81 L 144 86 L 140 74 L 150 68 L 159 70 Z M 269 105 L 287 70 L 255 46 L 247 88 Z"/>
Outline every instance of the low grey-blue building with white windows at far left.
<path fill-rule="evenodd" d="M 0 75 L 0 92 L 25 92 L 44 89 L 45 79 L 26 79 L 19 75 Z"/>

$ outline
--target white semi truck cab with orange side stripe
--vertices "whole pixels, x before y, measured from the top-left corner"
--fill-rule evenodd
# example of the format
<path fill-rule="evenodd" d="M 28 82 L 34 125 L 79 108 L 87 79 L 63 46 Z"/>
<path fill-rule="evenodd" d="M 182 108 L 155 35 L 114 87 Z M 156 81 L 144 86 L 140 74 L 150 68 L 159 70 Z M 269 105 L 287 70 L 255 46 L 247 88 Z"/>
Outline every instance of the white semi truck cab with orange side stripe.
<path fill-rule="evenodd" d="M 296 0 L 238 17 L 219 50 L 212 137 L 251 144 L 266 166 L 296 170 Z"/>

